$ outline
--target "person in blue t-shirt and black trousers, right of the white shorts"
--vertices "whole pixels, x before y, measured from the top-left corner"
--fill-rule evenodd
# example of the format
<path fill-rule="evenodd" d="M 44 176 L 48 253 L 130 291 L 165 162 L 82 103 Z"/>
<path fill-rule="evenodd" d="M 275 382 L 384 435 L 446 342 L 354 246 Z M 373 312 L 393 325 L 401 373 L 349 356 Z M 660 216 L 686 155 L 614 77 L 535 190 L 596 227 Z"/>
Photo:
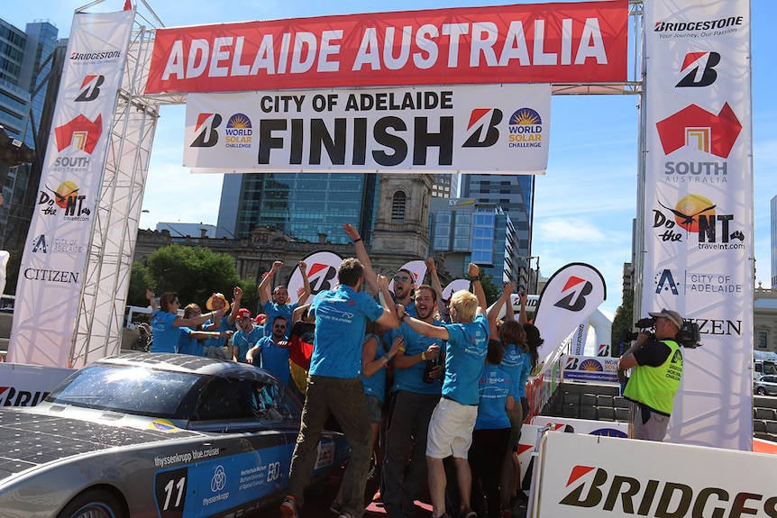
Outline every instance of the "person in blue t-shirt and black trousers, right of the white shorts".
<path fill-rule="evenodd" d="M 503 354 L 501 342 L 489 340 L 486 365 L 479 382 L 478 420 L 472 432 L 470 449 L 472 500 L 481 502 L 485 497 L 489 518 L 512 516 L 507 504 L 509 500 L 505 502 L 499 490 L 499 472 L 507 456 L 510 439 L 507 412 L 516 406 L 510 375 L 499 368 Z"/>

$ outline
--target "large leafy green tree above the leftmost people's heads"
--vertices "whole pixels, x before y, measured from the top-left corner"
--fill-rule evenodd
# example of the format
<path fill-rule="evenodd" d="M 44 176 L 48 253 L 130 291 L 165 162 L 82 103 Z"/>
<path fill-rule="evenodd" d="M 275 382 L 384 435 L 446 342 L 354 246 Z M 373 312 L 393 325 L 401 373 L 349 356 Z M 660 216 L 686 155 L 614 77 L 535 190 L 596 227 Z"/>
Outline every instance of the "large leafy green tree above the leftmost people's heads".
<path fill-rule="evenodd" d="M 152 252 L 146 263 L 156 295 L 178 292 L 182 306 L 196 303 L 203 311 L 208 297 L 216 292 L 231 304 L 233 288 L 240 282 L 232 257 L 203 247 L 169 245 Z"/>

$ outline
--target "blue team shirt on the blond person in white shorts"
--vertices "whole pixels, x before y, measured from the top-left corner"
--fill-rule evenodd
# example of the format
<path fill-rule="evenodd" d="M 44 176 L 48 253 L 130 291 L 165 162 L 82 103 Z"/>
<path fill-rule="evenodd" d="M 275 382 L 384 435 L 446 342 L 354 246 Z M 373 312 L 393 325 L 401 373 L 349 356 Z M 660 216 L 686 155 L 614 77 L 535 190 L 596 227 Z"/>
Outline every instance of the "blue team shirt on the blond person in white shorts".
<path fill-rule="evenodd" d="M 489 347 L 489 321 L 476 314 L 470 323 L 446 323 L 443 396 L 460 404 L 478 404 L 478 380 Z"/>

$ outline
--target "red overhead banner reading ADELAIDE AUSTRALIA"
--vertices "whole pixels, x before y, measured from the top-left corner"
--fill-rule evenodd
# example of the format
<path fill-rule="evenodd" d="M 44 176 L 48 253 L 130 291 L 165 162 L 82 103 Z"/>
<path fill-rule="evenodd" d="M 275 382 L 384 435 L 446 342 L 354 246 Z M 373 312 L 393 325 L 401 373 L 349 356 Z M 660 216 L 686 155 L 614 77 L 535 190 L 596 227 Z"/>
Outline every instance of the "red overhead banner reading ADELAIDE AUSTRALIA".
<path fill-rule="evenodd" d="M 627 0 L 160 29 L 147 94 L 626 80 Z"/>

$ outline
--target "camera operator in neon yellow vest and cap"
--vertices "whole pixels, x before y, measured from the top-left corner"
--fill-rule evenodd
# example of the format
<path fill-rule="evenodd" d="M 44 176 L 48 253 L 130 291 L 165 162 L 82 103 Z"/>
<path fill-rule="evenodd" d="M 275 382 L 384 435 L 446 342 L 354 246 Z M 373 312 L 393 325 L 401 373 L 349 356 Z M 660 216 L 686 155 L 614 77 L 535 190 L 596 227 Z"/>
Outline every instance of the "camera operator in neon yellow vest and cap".
<path fill-rule="evenodd" d="M 682 317 L 667 309 L 649 315 L 655 319 L 655 335 L 641 331 L 634 345 L 618 359 L 618 370 L 634 368 L 623 394 L 632 402 L 631 437 L 663 441 L 682 375 L 682 353 L 675 341 Z"/>

